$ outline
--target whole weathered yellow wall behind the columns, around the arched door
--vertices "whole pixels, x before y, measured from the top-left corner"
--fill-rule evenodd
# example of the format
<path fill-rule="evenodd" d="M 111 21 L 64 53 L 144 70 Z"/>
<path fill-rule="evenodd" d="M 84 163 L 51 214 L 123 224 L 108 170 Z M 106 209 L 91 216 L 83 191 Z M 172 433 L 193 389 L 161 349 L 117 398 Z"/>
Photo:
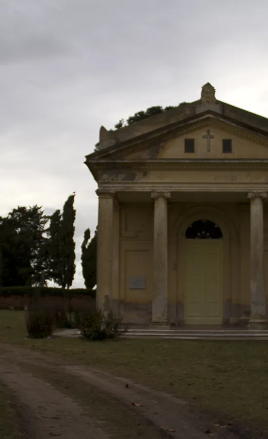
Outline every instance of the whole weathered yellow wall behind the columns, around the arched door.
<path fill-rule="evenodd" d="M 193 220 L 209 219 L 222 230 L 223 320 L 234 323 L 250 310 L 249 204 L 171 203 L 168 207 L 169 319 L 184 320 L 185 239 Z M 268 208 L 265 209 L 265 284 L 268 300 Z M 145 289 L 131 289 L 131 277 L 146 278 Z M 153 295 L 153 202 L 120 206 L 119 311 L 129 323 L 148 324 Z"/>

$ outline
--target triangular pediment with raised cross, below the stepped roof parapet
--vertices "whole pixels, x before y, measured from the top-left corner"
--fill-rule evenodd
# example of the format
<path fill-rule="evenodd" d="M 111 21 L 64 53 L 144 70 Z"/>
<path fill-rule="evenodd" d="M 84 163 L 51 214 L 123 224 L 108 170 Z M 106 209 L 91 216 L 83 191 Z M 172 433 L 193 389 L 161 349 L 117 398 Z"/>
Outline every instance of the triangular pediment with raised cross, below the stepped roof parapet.
<path fill-rule="evenodd" d="M 210 140 L 208 140 L 208 133 Z M 185 139 L 194 152 L 185 152 Z M 223 152 L 223 139 L 231 140 L 231 153 Z M 268 133 L 219 117 L 213 112 L 196 116 L 150 135 L 135 138 L 88 156 L 95 160 L 268 159 Z M 91 160 L 90 160 L 91 161 Z"/>

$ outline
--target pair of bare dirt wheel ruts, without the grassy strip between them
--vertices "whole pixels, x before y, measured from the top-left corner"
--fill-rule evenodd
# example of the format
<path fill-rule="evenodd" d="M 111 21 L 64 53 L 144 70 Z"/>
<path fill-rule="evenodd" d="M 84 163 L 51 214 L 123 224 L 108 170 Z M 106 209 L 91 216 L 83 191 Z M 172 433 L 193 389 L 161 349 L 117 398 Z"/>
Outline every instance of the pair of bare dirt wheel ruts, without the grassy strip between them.
<path fill-rule="evenodd" d="M 8 368 L 12 364 L 12 374 L 1 374 L 1 378 L 4 377 L 10 388 L 17 391 L 21 401 L 24 401 L 24 404 L 29 407 L 29 412 L 33 415 L 30 417 L 33 428 L 38 427 L 40 432 L 42 424 L 44 434 L 50 432 L 50 435 L 53 436 L 53 433 L 62 432 L 62 429 L 66 428 L 69 436 L 63 434 L 64 438 L 104 438 L 100 433 L 94 436 L 94 432 L 88 428 L 89 421 L 82 417 L 79 407 L 71 399 L 63 397 L 60 392 L 45 382 L 20 371 L 18 364 L 22 364 L 22 362 L 57 370 L 57 372 L 60 371 L 66 377 L 68 375 L 75 376 L 81 382 L 89 383 L 97 389 L 113 395 L 118 400 L 132 406 L 133 410 L 138 411 L 143 417 L 158 426 L 163 438 L 242 438 L 242 436 L 235 435 L 232 432 L 231 426 L 213 425 L 208 422 L 208 419 L 204 419 L 203 415 L 192 412 L 184 401 L 130 381 L 126 382 L 125 379 L 111 376 L 94 368 L 74 365 L 66 360 L 57 359 L 56 357 L 48 358 L 35 351 L 8 345 L 0 345 L 0 354 L 1 368 L 4 367 L 5 371 L 8 372 L 10 371 Z M 42 407 L 45 407 L 45 409 Z M 56 411 L 59 418 L 55 419 Z M 68 414 L 67 418 L 66 414 Z M 44 416 L 48 418 L 44 418 Z M 78 434 L 76 427 L 76 436 L 72 436 L 71 424 L 78 424 L 81 433 Z M 53 425 L 55 428 L 52 428 Z M 83 436 L 85 427 L 87 428 L 87 436 Z M 51 436 L 40 436 L 39 434 L 38 438 Z M 243 438 L 246 439 L 246 436 L 243 436 Z"/>

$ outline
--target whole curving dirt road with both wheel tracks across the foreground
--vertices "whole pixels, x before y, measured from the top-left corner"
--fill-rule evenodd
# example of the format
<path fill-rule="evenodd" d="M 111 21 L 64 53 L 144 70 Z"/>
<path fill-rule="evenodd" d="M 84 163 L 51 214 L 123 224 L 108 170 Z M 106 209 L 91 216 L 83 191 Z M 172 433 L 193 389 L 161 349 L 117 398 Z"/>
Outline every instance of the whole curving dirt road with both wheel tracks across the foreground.
<path fill-rule="evenodd" d="M 53 376 L 56 378 L 51 383 Z M 125 379 L 94 368 L 67 363 L 66 360 L 48 357 L 36 351 L 0 344 L 0 379 L 15 393 L 19 401 L 22 418 L 25 421 L 24 429 L 27 432 L 25 437 L 29 439 L 116 437 L 115 431 L 106 428 L 109 419 L 103 422 L 103 420 L 98 421 L 96 417 L 91 418 L 81 408 L 82 403 L 77 404 L 77 400 L 72 398 L 70 392 L 67 396 L 66 392 L 62 392 L 62 387 L 59 388 L 63 380 L 65 383 L 70 383 L 72 377 L 77 380 L 83 392 L 88 392 L 88 399 L 85 400 L 89 405 L 90 389 L 93 386 L 98 392 L 106 395 L 107 399 L 113 397 L 118 404 L 126 405 L 130 410 L 130 416 L 134 413 L 135 416 L 145 419 L 148 428 L 153 430 L 150 436 L 144 437 L 242 438 L 235 434 L 232 426 L 227 423 L 213 425 L 200 413 L 190 410 L 186 402 L 170 395 L 130 381 L 126 382 Z M 130 432 L 121 430 L 120 439 L 135 437 L 141 436 L 135 436 L 135 432 L 132 432 L 131 436 Z M 252 438 L 252 436 L 243 436 L 243 438 Z"/>

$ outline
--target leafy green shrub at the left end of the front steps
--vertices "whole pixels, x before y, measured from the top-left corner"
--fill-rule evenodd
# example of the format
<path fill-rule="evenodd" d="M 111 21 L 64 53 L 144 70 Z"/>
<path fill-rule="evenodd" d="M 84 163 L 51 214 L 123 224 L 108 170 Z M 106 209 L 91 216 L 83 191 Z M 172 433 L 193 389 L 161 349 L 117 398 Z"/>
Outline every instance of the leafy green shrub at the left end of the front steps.
<path fill-rule="evenodd" d="M 121 328 L 122 319 L 115 319 L 112 312 L 105 317 L 101 311 L 82 311 L 76 313 L 76 319 L 82 339 L 92 341 L 114 339 L 127 330 Z"/>

